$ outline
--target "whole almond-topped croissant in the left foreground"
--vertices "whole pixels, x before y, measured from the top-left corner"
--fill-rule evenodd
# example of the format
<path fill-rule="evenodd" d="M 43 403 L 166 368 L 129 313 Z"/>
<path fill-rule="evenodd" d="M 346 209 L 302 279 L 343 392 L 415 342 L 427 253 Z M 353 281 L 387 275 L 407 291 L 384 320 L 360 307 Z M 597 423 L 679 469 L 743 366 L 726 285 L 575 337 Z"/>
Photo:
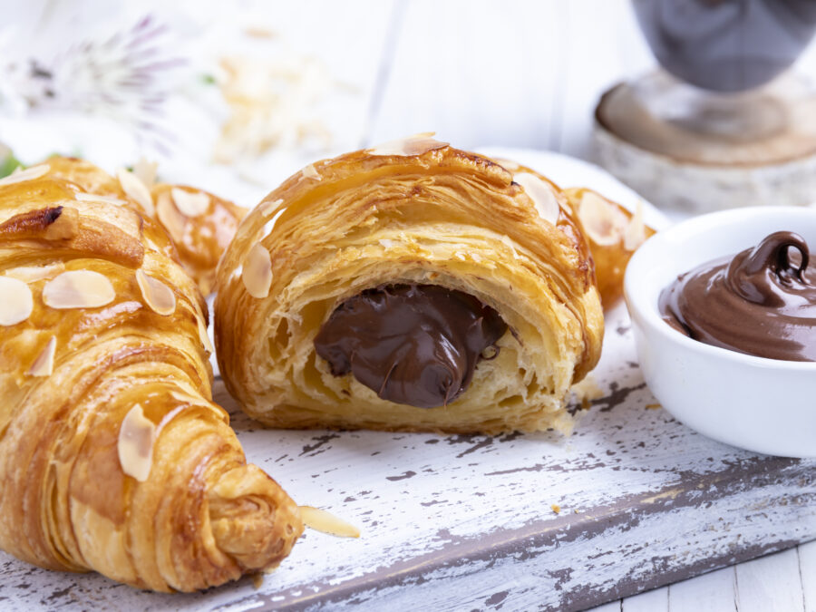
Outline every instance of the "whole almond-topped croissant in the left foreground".
<path fill-rule="evenodd" d="M 150 219 L 52 174 L 0 180 L 0 548 L 157 591 L 275 567 L 300 515 L 211 401 L 198 288 Z"/>

